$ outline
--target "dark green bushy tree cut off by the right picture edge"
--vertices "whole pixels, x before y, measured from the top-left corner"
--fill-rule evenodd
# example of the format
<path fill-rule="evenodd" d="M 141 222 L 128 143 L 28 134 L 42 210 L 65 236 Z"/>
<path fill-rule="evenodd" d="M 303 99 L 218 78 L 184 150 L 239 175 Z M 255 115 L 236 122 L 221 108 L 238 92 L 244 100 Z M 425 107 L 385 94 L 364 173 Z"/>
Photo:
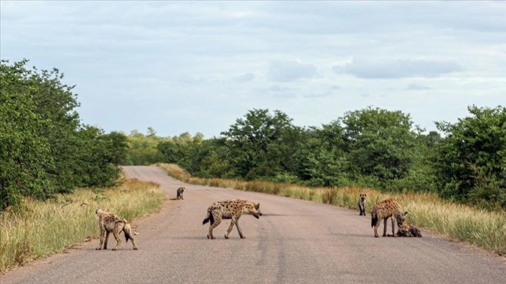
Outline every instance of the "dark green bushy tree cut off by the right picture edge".
<path fill-rule="evenodd" d="M 433 157 L 447 198 L 506 207 L 506 108 L 468 107 L 458 123 L 436 123 L 445 134 Z"/>

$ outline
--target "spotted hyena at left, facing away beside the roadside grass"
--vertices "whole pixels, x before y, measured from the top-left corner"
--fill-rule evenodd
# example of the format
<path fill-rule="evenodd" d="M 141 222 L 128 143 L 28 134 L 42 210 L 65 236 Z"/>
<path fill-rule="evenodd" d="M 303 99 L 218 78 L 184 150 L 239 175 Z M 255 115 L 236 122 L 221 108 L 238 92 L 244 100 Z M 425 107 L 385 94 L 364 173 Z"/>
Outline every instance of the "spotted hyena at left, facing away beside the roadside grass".
<path fill-rule="evenodd" d="M 125 239 L 128 242 L 128 239 L 132 240 L 132 244 L 134 245 L 134 249 L 137 249 L 137 245 L 135 244 L 135 240 L 132 237 L 132 228 L 130 228 L 130 223 L 120 216 L 109 213 L 108 210 L 97 209 L 95 214 L 98 218 L 98 227 L 100 228 L 100 245 L 97 249 L 102 249 L 102 244 L 104 244 L 104 249 L 107 249 L 107 240 L 109 239 L 109 233 L 112 232 L 114 235 L 114 239 L 116 239 L 116 246 L 112 249 L 116 251 L 118 246 L 121 244 L 121 239 L 119 238 L 119 234 L 121 231 L 125 232 Z M 105 241 L 104 241 L 105 237 Z"/>

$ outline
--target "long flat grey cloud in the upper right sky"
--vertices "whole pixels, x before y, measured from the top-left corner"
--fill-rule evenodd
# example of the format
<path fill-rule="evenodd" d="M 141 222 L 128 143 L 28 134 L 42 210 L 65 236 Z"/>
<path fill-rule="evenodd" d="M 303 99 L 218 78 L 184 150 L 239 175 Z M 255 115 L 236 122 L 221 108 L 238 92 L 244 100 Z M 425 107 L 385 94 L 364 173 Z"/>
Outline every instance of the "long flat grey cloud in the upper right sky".
<path fill-rule="evenodd" d="M 357 61 L 343 66 L 333 66 L 336 73 L 353 74 L 362 79 L 394 79 L 408 77 L 434 78 L 441 74 L 462 70 L 461 65 L 450 60 L 401 59 L 395 61 Z"/>

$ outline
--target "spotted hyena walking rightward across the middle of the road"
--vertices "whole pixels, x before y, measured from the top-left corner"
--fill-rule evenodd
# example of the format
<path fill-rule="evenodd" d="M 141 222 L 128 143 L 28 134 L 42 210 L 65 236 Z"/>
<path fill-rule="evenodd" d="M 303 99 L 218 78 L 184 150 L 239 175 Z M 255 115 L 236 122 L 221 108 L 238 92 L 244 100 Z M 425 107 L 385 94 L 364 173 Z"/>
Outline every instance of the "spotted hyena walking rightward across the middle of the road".
<path fill-rule="evenodd" d="M 239 227 L 239 218 L 243 214 L 251 214 L 256 219 L 259 219 L 260 216 L 262 216 L 262 212 L 260 212 L 260 203 L 254 204 L 247 200 L 238 199 L 217 201 L 213 203 L 207 209 L 206 219 L 202 221 L 202 225 L 210 221 L 209 234 L 207 235 L 207 238 L 215 239 L 213 236 L 213 229 L 220 225 L 222 219 L 232 219 L 229 230 L 227 230 L 227 235 L 225 235 L 225 239 L 229 238 L 233 225 L 236 225 L 240 238 L 244 239 L 245 237 L 243 232 Z"/>

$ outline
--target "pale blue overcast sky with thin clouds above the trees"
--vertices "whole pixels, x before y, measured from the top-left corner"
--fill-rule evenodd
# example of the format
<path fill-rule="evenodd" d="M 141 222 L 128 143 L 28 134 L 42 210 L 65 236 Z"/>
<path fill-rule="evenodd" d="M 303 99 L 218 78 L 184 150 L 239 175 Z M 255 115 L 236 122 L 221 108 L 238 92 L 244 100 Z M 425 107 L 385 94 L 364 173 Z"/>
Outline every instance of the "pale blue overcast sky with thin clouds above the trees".
<path fill-rule="evenodd" d="M 0 52 L 59 68 L 82 123 L 220 136 L 252 109 L 319 127 L 506 106 L 506 1 L 1 1 Z"/>

